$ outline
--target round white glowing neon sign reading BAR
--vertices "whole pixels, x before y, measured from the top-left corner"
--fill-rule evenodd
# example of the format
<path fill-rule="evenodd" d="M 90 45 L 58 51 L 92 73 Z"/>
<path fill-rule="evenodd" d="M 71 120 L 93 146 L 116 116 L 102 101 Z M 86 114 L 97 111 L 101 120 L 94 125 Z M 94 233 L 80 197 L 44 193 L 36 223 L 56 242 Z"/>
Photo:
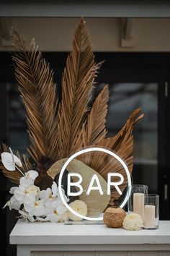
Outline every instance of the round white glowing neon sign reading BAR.
<path fill-rule="evenodd" d="M 130 171 L 128 170 L 128 166 L 126 165 L 126 163 L 122 160 L 122 158 L 120 158 L 119 155 L 117 155 L 116 153 L 107 150 L 105 148 L 86 148 L 84 150 L 80 150 L 79 152 L 74 153 L 73 155 L 71 155 L 70 158 L 68 158 L 68 160 L 66 161 L 66 163 L 63 165 L 62 169 L 61 169 L 61 174 L 59 176 L 59 180 L 58 180 L 58 189 L 59 189 L 59 193 L 61 195 L 61 200 L 63 201 L 63 204 L 66 206 L 66 208 L 68 208 L 68 210 L 70 210 L 73 214 L 75 214 L 76 216 L 89 220 L 89 221 L 101 221 L 103 218 L 102 217 L 88 217 L 88 216 L 82 216 L 80 213 L 77 213 L 75 210 L 73 210 L 68 203 L 65 201 L 64 197 L 63 197 L 63 193 L 62 193 L 62 177 L 63 177 L 63 173 L 66 170 L 68 164 L 77 156 L 84 154 L 84 153 L 88 153 L 91 151 L 98 151 L 98 152 L 102 152 L 102 153 L 107 153 L 109 155 L 111 155 L 112 157 L 116 158 L 117 161 L 120 162 L 120 164 L 122 165 L 122 167 L 125 169 L 125 173 L 127 175 L 127 180 L 128 180 L 128 187 L 131 186 L 131 177 L 130 177 Z M 77 182 L 71 182 L 71 177 L 76 176 L 78 178 Z M 118 176 L 120 177 L 119 182 L 112 182 L 111 179 L 112 177 Z M 82 176 L 80 174 L 76 174 L 76 173 L 69 173 L 68 174 L 68 195 L 69 196 L 78 196 L 81 195 L 81 193 L 83 192 L 83 187 L 81 186 L 81 182 L 82 182 Z M 94 182 L 97 184 L 97 186 L 94 186 Z M 109 173 L 107 175 L 107 195 L 110 195 L 110 187 L 114 186 L 115 189 L 117 190 L 117 192 L 119 193 L 119 195 L 122 195 L 122 192 L 119 188 L 120 184 L 122 184 L 124 182 L 124 177 L 122 176 L 122 174 L 118 174 L 118 173 Z M 78 187 L 79 191 L 78 192 L 71 192 L 71 187 Z M 98 176 L 96 174 L 94 174 L 92 176 L 91 182 L 89 183 L 89 187 L 87 189 L 86 194 L 89 195 L 91 190 L 99 190 L 100 195 L 103 195 L 103 191 L 102 191 L 102 187 L 99 183 L 99 179 Z M 126 202 L 128 201 L 128 197 L 130 195 L 130 191 L 127 192 L 127 194 L 125 195 L 124 199 L 122 200 L 121 204 L 120 204 L 120 208 L 123 208 L 126 204 Z"/>

